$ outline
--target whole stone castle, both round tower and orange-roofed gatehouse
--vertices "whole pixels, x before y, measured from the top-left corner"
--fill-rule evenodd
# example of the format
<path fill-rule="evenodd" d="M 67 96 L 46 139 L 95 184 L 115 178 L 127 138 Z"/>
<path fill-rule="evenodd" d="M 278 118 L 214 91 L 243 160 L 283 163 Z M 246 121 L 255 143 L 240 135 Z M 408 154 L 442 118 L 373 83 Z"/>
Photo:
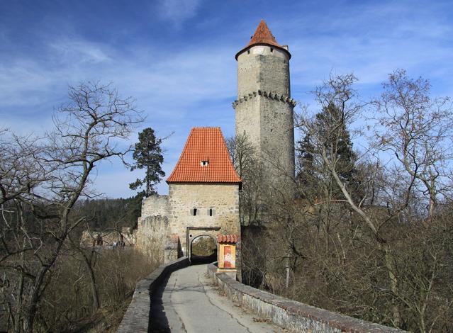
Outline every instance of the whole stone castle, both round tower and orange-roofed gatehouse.
<path fill-rule="evenodd" d="M 287 46 L 281 46 L 264 21 L 250 43 L 236 54 L 236 135 L 246 135 L 258 152 L 267 188 L 291 191 L 294 176 L 293 107 Z M 240 239 L 241 179 L 230 161 L 220 128 L 193 128 L 174 171 L 168 196 L 142 203 L 137 247 L 159 251 L 165 261 L 191 256 L 200 236 Z M 238 247 L 238 254 L 240 247 Z"/>

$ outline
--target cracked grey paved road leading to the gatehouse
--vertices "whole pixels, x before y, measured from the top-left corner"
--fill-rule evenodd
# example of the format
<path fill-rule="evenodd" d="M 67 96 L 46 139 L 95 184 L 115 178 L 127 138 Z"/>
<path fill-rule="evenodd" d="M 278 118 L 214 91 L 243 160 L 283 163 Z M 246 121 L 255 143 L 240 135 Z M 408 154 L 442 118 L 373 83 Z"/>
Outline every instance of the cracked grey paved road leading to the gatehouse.
<path fill-rule="evenodd" d="M 220 295 L 206 269 L 206 265 L 194 265 L 174 271 L 156 291 L 152 332 L 283 332 Z"/>

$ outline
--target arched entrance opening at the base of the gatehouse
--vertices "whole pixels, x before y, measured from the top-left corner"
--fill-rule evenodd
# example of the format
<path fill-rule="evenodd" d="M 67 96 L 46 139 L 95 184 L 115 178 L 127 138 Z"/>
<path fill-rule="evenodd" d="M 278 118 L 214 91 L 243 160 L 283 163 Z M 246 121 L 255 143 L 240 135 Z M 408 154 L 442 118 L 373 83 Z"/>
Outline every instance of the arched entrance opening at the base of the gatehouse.
<path fill-rule="evenodd" d="M 217 260 L 216 236 L 219 230 L 220 227 L 187 227 L 186 255 L 191 262 L 213 262 Z M 195 248 L 193 249 L 193 247 Z"/>

